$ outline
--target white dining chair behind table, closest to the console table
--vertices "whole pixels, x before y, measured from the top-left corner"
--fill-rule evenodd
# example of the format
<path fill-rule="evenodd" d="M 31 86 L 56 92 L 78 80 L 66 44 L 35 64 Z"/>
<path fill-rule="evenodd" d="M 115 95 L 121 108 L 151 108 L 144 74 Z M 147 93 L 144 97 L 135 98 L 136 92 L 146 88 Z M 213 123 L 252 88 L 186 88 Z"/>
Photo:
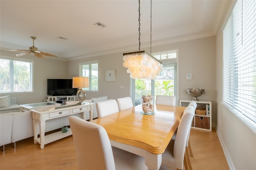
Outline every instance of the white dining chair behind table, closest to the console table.
<path fill-rule="evenodd" d="M 119 112 L 116 100 L 110 99 L 96 103 L 98 118 Z"/>

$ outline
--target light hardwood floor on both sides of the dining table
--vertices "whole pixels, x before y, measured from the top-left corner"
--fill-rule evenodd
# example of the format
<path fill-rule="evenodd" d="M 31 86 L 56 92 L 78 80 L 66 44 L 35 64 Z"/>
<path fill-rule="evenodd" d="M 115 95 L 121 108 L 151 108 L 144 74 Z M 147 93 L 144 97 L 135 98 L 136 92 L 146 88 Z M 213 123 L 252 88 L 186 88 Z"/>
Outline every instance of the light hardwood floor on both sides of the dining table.
<path fill-rule="evenodd" d="M 193 170 L 229 170 L 216 130 L 191 129 L 190 144 L 194 158 Z M 1 147 L 2 149 L 2 147 Z M 46 144 L 40 149 L 33 138 L 5 146 L 0 151 L 0 170 L 77 170 L 76 151 L 72 136 Z"/>

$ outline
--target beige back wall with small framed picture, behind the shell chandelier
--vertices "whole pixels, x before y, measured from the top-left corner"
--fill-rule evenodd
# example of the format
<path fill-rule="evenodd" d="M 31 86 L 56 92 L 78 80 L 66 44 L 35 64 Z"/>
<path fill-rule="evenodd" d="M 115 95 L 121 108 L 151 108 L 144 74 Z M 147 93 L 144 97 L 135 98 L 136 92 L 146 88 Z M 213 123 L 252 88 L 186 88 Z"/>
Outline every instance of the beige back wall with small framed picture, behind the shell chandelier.
<path fill-rule="evenodd" d="M 187 88 L 205 89 L 206 94 L 198 97 L 198 99 L 212 101 L 213 125 L 216 122 L 215 44 L 215 36 L 213 36 L 152 47 L 152 50 L 154 50 L 152 52 L 178 49 L 178 100 L 192 99 L 186 93 Z M 143 50 L 149 51 L 149 49 Z M 79 63 L 99 61 L 99 92 L 86 92 L 86 99 L 104 95 L 108 95 L 109 99 L 129 96 L 129 74 L 126 73 L 126 68 L 122 66 L 122 57 L 122 53 L 114 53 L 68 61 L 67 76 L 79 75 Z M 106 69 L 115 69 L 115 82 L 105 81 Z M 192 73 L 192 80 L 186 80 L 186 73 Z M 124 89 L 120 89 L 120 86 L 124 86 Z"/>

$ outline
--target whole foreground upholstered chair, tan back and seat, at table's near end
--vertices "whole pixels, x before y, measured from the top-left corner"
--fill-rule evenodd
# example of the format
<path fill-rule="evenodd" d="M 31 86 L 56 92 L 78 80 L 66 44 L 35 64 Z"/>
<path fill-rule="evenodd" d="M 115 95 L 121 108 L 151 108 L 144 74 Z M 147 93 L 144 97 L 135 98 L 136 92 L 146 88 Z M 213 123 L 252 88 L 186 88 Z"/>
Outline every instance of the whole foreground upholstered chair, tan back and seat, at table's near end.
<path fill-rule="evenodd" d="M 95 123 L 70 116 L 79 170 L 144 170 L 144 158 L 112 147 L 106 130 Z"/>

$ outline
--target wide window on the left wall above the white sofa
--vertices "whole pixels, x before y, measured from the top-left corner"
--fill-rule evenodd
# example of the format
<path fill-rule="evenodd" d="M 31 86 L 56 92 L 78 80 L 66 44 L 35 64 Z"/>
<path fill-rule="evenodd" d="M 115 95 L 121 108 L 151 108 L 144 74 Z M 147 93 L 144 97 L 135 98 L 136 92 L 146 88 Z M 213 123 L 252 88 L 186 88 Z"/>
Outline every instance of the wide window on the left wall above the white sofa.
<path fill-rule="evenodd" d="M 32 61 L 0 58 L 0 93 L 32 91 Z"/>

